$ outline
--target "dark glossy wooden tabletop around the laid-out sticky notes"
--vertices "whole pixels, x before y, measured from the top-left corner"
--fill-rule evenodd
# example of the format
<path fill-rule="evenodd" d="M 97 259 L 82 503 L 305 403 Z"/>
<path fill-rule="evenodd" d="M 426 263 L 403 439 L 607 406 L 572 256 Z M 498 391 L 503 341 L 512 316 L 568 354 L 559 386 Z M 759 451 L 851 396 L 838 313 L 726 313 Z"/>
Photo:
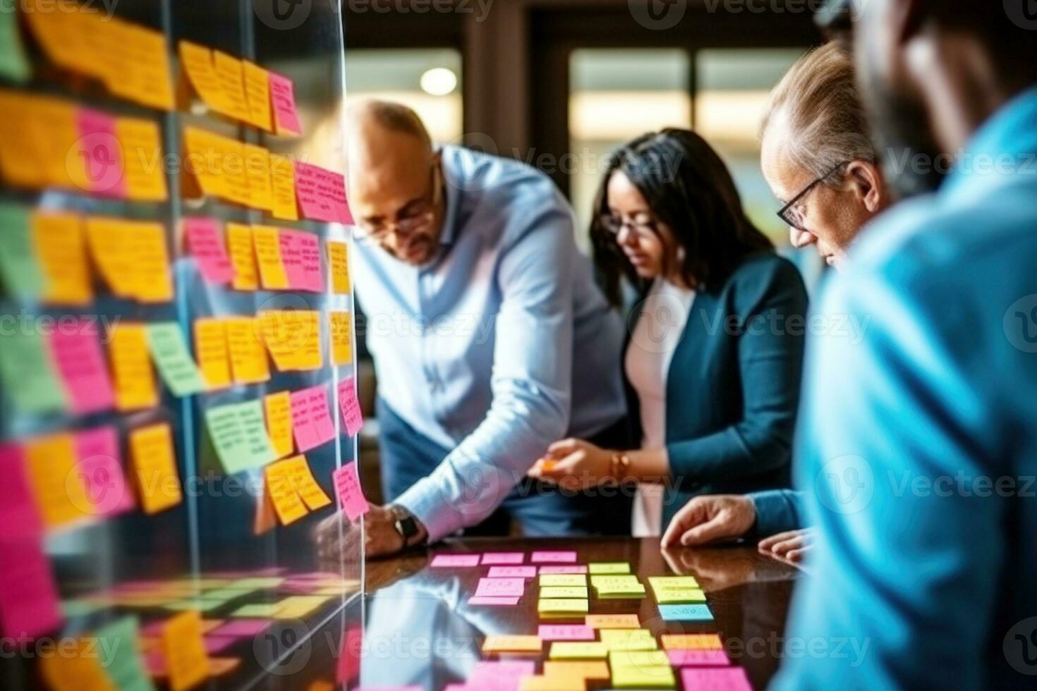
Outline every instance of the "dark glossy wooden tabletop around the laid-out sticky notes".
<path fill-rule="evenodd" d="M 475 662 L 485 657 L 481 644 L 487 634 L 536 634 L 541 623 L 582 623 L 582 617 L 540 618 L 537 586 L 532 582 L 515 607 L 470 606 L 468 598 L 488 567 L 428 568 L 431 557 L 444 552 L 523 551 L 527 554 L 525 564 L 529 564 L 529 554 L 537 549 L 573 549 L 579 564 L 629 562 L 632 572 L 646 586 L 648 576 L 695 576 L 706 592 L 714 622 L 663 622 L 650 587 L 640 600 L 598 600 L 591 589 L 590 612 L 636 612 L 642 627 L 656 637 L 667 632 L 718 632 L 732 662 L 746 668 L 757 689 L 765 688 L 777 670 L 792 586 L 800 572 L 759 554 L 755 546 L 662 552 L 657 540 L 629 538 L 459 539 L 367 564 L 363 684 L 413 684 L 439 691 L 467 680 Z M 537 659 L 545 658 L 546 649 Z M 608 687 L 607 682 L 588 684 L 588 689 Z"/>

